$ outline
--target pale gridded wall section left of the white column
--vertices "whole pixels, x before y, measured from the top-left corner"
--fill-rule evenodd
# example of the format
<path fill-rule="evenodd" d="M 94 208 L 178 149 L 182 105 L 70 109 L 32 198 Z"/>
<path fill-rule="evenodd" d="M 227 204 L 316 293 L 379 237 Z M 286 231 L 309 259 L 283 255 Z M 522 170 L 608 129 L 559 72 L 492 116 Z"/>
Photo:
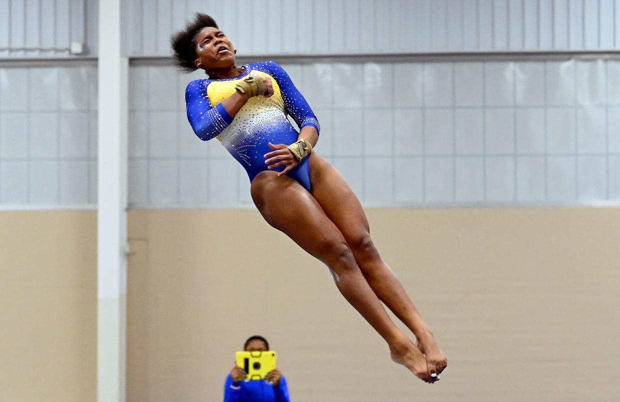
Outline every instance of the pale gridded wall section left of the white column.
<path fill-rule="evenodd" d="M 97 203 L 97 69 L 0 68 L 0 208 Z"/>

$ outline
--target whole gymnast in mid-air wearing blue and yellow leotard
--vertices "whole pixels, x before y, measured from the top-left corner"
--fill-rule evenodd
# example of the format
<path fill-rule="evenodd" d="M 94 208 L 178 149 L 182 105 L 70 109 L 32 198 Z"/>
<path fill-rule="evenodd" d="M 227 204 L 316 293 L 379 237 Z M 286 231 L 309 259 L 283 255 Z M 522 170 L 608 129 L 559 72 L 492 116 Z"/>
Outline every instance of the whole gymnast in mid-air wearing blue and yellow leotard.
<path fill-rule="evenodd" d="M 438 380 L 446 357 L 381 260 L 355 193 L 312 152 L 319 122 L 288 74 L 273 61 L 237 66 L 231 40 L 206 14 L 196 14 L 171 43 L 180 69 L 203 69 L 208 76 L 190 82 L 185 91 L 187 118 L 197 136 L 218 138 L 246 168 L 252 199 L 265 221 L 329 267 L 340 293 L 386 340 L 392 360 L 425 382 Z M 417 344 L 381 302 L 413 331 Z"/>

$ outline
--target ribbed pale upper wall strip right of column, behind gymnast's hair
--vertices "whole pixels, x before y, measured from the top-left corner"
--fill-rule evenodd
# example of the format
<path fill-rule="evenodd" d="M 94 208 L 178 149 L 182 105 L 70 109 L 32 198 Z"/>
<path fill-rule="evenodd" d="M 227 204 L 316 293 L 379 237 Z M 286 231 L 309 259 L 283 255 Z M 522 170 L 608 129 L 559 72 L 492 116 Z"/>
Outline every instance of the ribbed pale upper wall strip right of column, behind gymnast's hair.
<path fill-rule="evenodd" d="M 126 0 L 130 56 L 169 56 L 170 33 L 212 15 L 239 55 L 611 50 L 620 0 Z"/>

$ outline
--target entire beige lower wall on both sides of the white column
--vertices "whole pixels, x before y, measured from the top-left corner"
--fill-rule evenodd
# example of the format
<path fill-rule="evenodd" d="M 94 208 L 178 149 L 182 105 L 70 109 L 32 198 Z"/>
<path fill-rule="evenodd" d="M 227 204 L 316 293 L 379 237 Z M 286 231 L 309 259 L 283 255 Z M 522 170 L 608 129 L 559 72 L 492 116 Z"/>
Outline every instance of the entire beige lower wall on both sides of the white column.
<path fill-rule="evenodd" d="M 620 209 L 371 209 L 448 355 L 389 360 L 327 269 L 256 211 L 132 211 L 130 401 L 219 401 L 254 333 L 294 401 L 620 400 Z M 0 213 L 0 401 L 92 401 L 95 212 Z"/>

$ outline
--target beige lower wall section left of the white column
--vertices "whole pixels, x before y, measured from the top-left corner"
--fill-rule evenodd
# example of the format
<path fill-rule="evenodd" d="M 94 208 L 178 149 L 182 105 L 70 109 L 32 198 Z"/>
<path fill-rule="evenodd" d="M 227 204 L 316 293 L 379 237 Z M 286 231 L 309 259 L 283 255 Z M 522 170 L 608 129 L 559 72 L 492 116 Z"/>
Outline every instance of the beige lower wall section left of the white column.
<path fill-rule="evenodd" d="M 0 401 L 94 401 L 96 353 L 96 212 L 0 212 Z"/>

